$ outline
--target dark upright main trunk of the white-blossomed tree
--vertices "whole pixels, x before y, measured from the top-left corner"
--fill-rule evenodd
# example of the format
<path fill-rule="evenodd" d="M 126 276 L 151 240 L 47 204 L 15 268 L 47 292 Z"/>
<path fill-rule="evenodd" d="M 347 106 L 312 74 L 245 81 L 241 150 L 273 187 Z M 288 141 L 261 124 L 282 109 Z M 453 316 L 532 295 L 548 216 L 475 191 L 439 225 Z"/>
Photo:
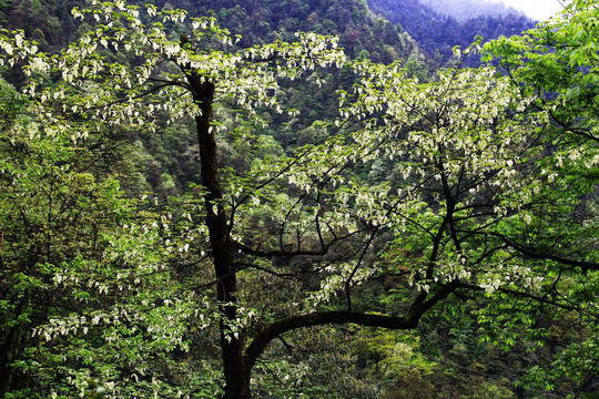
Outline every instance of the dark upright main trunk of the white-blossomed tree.
<path fill-rule="evenodd" d="M 189 73 L 189 71 L 187 71 Z M 211 129 L 214 84 L 201 82 L 193 72 L 187 74 L 194 100 L 202 110 L 195 117 L 202 185 L 205 193 L 206 226 L 210 234 L 212 258 L 217 279 L 216 299 L 221 305 L 221 351 L 225 377 L 224 399 L 248 399 L 250 370 L 244 366 L 243 341 L 240 334 L 230 331 L 230 320 L 237 317 L 237 280 L 233 266 L 233 246 L 229 221 L 223 206 L 223 192 L 219 174 L 217 146 Z"/>

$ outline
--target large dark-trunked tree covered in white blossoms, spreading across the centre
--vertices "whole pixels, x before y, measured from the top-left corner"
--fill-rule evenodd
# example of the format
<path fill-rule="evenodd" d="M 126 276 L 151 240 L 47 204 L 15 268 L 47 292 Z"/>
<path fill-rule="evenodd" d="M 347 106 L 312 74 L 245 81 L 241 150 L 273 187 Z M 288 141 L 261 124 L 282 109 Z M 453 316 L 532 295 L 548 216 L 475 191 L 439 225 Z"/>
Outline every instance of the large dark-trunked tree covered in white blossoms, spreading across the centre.
<path fill-rule="evenodd" d="M 90 17 L 90 31 L 57 55 L 38 54 L 20 33 L 4 32 L 0 45 L 4 62 L 24 64 L 31 76 L 26 93 L 48 133 L 152 130 L 156 110 L 193 119 L 202 206 L 189 205 L 191 224 L 173 250 L 211 267 L 204 275 L 214 278 L 217 311 L 196 310 L 219 330 L 224 398 L 251 396 L 257 359 L 290 331 L 325 324 L 413 329 L 450 296 L 501 299 L 486 300 L 483 316 L 515 306 L 493 324 L 498 328 L 515 319 L 534 325 L 531 315 L 551 306 L 579 311 L 596 330 L 597 250 L 575 241 L 583 232 L 591 242 L 593 215 L 570 217 L 596 184 L 570 178 L 571 171 L 593 171 L 596 161 L 587 147 L 581 157 L 560 158 L 573 147 L 554 142 L 537 96 L 521 95 L 490 66 L 448 70 L 423 84 L 396 64 L 356 62 L 356 92 L 341 93 L 342 117 L 323 124 L 319 142 L 254 160 L 248 171 L 222 170 L 219 104 L 253 119 L 231 136 L 264 143 L 251 131 L 261 122 L 255 109 L 281 108 L 278 82 L 346 60 L 332 38 L 307 33 L 296 43 L 236 50 L 213 19 L 192 19 L 190 33 L 183 11 L 145 12 L 123 2 L 75 9 L 77 18 Z M 131 61 L 115 61 L 123 53 Z M 44 84 L 58 72 L 61 81 Z M 390 165 L 388 178 L 361 177 L 377 160 L 388 161 L 377 165 Z M 545 256 L 557 247 L 564 253 Z M 252 301 L 247 285 L 258 277 L 292 299 Z M 385 277 L 396 306 L 363 311 L 361 287 Z M 204 294 L 192 284 L 190 293 Z M 199 323 L 190 311 L 197 298 L 182 303 L 179 317 Z"/>

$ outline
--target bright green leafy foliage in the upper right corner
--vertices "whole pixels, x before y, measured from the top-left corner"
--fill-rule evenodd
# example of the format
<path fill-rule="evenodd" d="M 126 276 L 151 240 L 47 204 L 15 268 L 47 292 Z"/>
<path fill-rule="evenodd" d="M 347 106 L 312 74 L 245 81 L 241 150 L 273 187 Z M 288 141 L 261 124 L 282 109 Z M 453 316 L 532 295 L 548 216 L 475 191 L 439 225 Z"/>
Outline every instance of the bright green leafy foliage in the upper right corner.
<path fill-rule="evenodd" d="M 562 12 L 526 34 L 501 37 L 485 45 L 485 60 L 496 59 L 524 95 L 538 96 L 561 133 L 597 141 L 596 1 L 572 1 Z"/>

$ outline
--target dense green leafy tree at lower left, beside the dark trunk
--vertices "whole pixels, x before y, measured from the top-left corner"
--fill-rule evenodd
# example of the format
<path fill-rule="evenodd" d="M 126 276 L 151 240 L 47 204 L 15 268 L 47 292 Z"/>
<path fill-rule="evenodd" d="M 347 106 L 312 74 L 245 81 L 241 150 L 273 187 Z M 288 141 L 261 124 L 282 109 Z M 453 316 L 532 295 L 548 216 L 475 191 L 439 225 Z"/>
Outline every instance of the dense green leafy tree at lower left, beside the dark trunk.
<path fill-rule="evenodd" d="M 102 173 L 105 137 L 43 124 L 4 82 L 2 94 L 0 392 L 148 396 L 154 385 L 143 374 L 134 387 L 126 381 L 169 371 L 161 359 L 185 345 L 195 304 L 165 265 L 167 223 Z"/>

